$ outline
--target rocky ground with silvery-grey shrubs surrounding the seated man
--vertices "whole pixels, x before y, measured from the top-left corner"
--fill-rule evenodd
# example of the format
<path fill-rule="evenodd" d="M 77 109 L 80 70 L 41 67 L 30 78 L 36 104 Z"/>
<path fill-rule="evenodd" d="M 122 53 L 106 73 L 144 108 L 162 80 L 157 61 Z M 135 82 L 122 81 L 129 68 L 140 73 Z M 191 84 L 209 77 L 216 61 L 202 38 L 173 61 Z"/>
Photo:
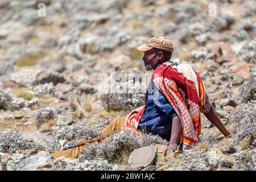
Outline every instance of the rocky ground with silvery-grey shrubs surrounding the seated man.
<path fill-rule="evenodd" d="M 2 0 L 0 14 L 0 171 L 256 170 L 255 1 Z M 97 137 L 143 105 L 142 92 L 104 88 L 113 71 L 146 75 L 135 47 L 152 36 L 170 38 L 172 59 L 199 72 L 234 137 L 202 115 L 199 144 L 173 159 L 159 137 L 123 132 L 52 159 L 61 141 Z"/>

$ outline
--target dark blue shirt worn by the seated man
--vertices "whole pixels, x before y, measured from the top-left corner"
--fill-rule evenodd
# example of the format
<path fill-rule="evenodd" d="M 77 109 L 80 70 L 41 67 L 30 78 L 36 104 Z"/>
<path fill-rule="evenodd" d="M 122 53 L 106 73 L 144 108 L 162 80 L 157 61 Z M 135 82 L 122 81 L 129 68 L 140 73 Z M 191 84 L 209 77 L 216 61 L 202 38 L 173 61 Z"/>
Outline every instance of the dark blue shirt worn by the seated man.
<path fill-rule="evenodd" d="M 146 133 L 158 134 L 169 141 L 172 118 L 176 115 L 167 98 L 155 86 L 151 78 L 146 92 L 145 110 L 138 128 Z"/>

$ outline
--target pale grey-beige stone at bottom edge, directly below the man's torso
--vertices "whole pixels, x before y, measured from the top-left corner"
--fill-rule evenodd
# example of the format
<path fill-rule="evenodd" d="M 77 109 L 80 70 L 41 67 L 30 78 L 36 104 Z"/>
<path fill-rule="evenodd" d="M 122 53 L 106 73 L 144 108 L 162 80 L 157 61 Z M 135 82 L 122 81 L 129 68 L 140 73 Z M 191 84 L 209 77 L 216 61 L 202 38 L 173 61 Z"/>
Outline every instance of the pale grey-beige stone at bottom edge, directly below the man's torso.
<path fill-rule="evenodd" d="M 145 168 L 154 163 L 158 147 L 146 146 L 131 152 L 128 163 L 131 168 Z"/>

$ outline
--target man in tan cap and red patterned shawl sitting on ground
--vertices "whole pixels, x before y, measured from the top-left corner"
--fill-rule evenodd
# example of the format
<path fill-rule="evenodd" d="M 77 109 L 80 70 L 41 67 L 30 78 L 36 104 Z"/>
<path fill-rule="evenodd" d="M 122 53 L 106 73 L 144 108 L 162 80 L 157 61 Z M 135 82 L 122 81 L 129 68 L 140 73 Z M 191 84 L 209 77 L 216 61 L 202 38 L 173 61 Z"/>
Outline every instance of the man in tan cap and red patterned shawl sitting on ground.
<path fill-rule="evenodd" d="M 126 118 L 114 119 L 104 130 L 108 137 L 118 130 L 133 129 L 158 134 L 167 139 L 171 151 L 181 151 L 196 144 L 201 131 L 200 112 L 212 122 L 225 137 L 231 137 L 222 124 L 216 111 L 210 105 L 203 81 L 188 64 L 170 61 L 174 48 L 169 39 L 154 37 L 142 46 L 143 61 L 147 71 L 154 70 L 146 92 L 146 105 L 131 111 Z M 138 135 L 142 133 L 137 132 Z M 80 154 L 84 143 L 92 140 L 79 140 L 69 143 L 63 151 L 52 154 L 54 158 L 68 156 L 75 158 Z"/>

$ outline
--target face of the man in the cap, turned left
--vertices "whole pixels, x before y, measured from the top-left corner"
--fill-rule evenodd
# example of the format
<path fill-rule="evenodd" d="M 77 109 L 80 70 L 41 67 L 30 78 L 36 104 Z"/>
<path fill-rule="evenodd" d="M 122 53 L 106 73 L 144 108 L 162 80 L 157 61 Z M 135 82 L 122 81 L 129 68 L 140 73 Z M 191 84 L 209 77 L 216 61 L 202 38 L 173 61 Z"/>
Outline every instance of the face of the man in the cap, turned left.
<path fill-rule="evenodd" d="M 159 64 L 158 54 L 155 53 L 154 49 L 150 49 L 149 51 L 144 52 L 142 60 L 144 61 L 144 66 L 146 67 L 147 71 L 150 71 L 151 69 L 155 70 Z"/>

